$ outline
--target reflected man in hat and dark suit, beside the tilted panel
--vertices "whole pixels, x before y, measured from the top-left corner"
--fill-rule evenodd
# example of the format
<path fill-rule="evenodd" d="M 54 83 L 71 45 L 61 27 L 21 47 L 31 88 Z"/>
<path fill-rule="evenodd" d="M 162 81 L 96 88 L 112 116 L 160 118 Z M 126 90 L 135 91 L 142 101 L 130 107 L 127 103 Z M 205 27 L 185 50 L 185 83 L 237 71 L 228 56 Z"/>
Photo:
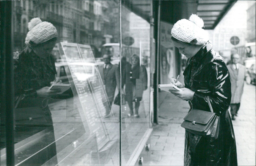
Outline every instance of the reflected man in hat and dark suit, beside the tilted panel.
<path fill-rule="evenodd" d="M 116 90 L 116 77 L 117 69 L 116 66 L 110 63 L 111 57 L 110 55 L 103 55 L 103 60 L 105 62 L 103 66 L 103 75 L 104 75 L 104 84 L 105 84 L 105 90 L 108 96 L 109 104 L 112 105 Z M 106 117 L 110 115 L 110 110 L 107 109 Z"/>

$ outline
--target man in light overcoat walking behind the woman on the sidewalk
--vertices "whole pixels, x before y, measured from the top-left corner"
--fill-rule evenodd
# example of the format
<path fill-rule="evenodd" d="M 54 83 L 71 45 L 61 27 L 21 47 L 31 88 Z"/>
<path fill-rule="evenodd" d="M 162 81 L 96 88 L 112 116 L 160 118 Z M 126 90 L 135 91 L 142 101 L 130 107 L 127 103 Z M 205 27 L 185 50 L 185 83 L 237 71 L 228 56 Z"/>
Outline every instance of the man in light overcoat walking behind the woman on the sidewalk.
<path fill-rule="evenodd" d="M 230 73 L 231 81 L 231 102 L 230 109 L 232 120 L 236 119 L 238 109 L 240 107 L 241 96 L 244 89 L 244 79 L 246 74 L 246 68 L 244 65 L 238 63 L 240 56 L 238 54 L 231 55 L 231 63 L 227 66 Z"/>

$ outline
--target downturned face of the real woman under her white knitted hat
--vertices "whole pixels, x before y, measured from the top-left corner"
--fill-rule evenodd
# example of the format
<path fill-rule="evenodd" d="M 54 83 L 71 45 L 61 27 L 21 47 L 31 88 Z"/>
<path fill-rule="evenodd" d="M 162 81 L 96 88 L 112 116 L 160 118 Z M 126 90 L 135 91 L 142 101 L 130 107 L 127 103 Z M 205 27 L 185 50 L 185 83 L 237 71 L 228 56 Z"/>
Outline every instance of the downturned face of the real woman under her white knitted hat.
<path fill-rule="evenodd" d="M 177 41 L 173 41 L 173 44 L 179 49 L 180 54 L 184 54 L 187 58 L 193 57 L 198 52 L 198 50 L 195 49 L 195 45 L 192 44 Z"/>

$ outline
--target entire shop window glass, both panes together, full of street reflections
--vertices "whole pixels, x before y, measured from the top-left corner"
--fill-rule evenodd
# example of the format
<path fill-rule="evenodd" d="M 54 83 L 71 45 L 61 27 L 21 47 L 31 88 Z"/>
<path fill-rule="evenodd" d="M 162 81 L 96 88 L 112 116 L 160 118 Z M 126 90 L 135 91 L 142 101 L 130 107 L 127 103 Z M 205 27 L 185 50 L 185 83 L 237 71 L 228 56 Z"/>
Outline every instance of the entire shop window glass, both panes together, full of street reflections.
<path fill-rule="evenodd" d="M 152 131 L 149 23 L 115 0 L 12 1 L 10 10 L 15 165 L 138 164 Z M 42 43 L 27 42 L 37 26 L 29 27 L 32 18 L 58 32 L 47 58 L 36 49 Z M 70 88 L 42 97 L 40 90 L 51 93 L 57 79 Z M 9 141 L 5 113 L 3 166 Z"/>

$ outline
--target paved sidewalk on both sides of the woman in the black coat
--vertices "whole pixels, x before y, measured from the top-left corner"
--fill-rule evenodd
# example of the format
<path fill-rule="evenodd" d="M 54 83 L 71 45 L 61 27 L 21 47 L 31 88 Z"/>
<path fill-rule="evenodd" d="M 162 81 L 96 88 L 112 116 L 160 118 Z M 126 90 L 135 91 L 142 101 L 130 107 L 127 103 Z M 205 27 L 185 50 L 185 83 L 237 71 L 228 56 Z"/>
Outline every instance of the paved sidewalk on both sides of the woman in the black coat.
<path fill-rule="evenodd" d="M 158 125 L 150 135 L 150 161 L 143 165 L 183 165 L 185 129 L 180 126 L 188 102 L 167 92 L 159 93 Z M 255 165 L 255 86 L 244 86 L 238 117 L 233 122 L 238 165 Z"/>

